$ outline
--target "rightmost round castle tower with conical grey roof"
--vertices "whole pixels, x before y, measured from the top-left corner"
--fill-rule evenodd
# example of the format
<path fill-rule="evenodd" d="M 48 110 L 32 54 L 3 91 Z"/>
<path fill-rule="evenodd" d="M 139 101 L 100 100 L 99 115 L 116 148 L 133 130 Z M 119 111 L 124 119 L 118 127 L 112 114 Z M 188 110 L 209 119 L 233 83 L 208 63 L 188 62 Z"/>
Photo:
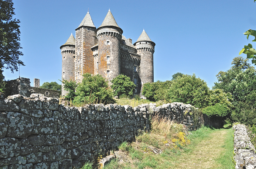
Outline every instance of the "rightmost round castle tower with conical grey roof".
<path fill-rule="evenodd" d="M 155 49 L 155 43 L 151 41 L 148 34 L 143 29 L 138 40 L 133 44 L 137 49 L 137 54 L 140 55 L 140 80 L 141 80 L 141 92 L 143 84 L 147 82 L 154 82 L 154 66 L 153 66 L 153 54 Z"/>

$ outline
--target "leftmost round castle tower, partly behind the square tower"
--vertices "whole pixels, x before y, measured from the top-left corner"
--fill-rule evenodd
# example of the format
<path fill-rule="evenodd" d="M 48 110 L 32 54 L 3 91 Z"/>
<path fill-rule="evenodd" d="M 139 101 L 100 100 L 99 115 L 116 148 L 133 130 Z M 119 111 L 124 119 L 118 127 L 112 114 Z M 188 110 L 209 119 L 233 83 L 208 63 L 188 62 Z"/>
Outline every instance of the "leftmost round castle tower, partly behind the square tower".
<path fill-rule="evenodd" d="M 67 42 L 60 46 L 62 55 L 62 79 L 64 80 L 75 80 L 75 43 L 76 40 L 71 33 Z M 67 94 L 68 92 L 63 89 L 63 84 L 61 84 L 61 96 Z"/>

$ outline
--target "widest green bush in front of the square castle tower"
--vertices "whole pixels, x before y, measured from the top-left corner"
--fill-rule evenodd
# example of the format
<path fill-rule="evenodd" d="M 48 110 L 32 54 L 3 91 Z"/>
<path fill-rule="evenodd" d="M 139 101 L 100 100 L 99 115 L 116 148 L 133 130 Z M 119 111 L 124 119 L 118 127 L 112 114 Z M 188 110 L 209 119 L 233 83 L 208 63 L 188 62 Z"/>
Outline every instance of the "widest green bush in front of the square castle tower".
<path fill-rule="evenodd" d="M 108 87 L 108 82 L 100 75 L 83 74 L 83 80 L 76 88 L 74 102 L 77 104 L 110 103 L 113 100 L 113 90 Z"/>

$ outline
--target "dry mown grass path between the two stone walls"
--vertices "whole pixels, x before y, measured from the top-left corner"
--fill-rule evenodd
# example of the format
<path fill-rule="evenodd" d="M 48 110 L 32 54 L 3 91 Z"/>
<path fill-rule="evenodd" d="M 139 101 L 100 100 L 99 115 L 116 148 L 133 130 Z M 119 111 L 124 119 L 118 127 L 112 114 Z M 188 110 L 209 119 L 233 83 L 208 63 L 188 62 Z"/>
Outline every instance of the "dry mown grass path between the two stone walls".
<path fill-rule="evenodd" d="M 172 167 L 175 169 L 215 169 L 219 168 L 220 164 L 216 162 L 217 158 L 221 158 L 225 149 L 223 148 L 228 130 L 215 130 L 209 137 L 205 138 L 197 145 L 188 146 L 185 152 L 172 162 Z M 187 151 L 187 152 L 186 152 Z"/>

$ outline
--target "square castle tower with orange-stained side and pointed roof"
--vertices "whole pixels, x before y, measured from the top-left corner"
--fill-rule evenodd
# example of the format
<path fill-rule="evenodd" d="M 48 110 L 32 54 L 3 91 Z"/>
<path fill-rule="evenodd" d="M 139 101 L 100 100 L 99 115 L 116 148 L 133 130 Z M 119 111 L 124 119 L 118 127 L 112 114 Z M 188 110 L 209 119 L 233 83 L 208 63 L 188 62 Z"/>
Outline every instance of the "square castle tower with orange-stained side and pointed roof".
<path fill-rule="evenodd" d="M 81 82 L 84 73 L 94 74 L 94 57 L 90 49 L 97 43 L 96 27 L 91 15 L 86 13 L 76 30 L 75 80 Z"/>

